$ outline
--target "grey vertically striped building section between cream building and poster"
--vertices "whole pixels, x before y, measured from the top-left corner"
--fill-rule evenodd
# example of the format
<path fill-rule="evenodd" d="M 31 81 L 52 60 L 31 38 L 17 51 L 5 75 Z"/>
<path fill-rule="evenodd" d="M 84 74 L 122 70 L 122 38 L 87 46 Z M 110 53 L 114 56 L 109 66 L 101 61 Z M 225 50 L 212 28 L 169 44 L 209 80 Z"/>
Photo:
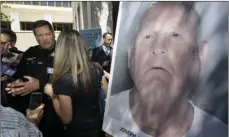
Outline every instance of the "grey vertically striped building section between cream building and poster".
<path fill-rule="evenodd" d="M 72 8 L 74 29 L 101 28 L 102 34 L 111 32 L 115 37 L 119 9 L 118 1 L 72 2 Z"/>

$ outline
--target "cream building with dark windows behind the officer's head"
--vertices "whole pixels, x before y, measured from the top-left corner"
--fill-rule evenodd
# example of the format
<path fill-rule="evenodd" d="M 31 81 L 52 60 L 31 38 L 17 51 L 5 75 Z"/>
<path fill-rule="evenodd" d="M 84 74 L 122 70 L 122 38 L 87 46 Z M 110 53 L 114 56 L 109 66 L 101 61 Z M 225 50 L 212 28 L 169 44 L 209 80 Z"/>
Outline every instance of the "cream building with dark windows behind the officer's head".
<path fill-rule="evenodd" d="M 55 30 L 56 37 L 64 28 L 72 28 L 73 14 L 70 1 L 1 1 L 1 12 L 10 16 L 12 23 L 1 21 L 1 28 L 16 32 L 17 47 L 25 51 L 37 45 L 32 32 L 36 20 L 48 20 Z"/>

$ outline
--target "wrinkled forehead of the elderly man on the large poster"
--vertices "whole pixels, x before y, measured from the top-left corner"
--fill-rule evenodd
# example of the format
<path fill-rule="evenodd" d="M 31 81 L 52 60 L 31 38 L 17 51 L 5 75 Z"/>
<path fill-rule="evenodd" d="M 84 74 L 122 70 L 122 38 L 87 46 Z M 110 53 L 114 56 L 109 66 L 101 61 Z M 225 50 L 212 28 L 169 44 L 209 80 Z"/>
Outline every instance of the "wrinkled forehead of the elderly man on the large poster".
<path fill-rule="evenodd" d="M 197 22 L 198 15 L 192 9 L 187 12 L 180 4 L 155 4 L 144 17 L 141 28 L 192 35 L 196 33 Z"/>

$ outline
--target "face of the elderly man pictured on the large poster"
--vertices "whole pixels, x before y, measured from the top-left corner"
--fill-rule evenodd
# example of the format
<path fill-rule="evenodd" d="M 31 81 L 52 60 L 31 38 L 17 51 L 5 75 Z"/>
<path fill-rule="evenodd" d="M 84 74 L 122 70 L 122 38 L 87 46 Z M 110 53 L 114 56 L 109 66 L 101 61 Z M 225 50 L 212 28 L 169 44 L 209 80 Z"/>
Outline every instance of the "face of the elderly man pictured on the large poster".
<path fill-rule="evenodd" d="M 180 5 L 157 5 L 147 13 L 134 56 L 134 81 L 142 96 L 177 99 L 197 80 L 196 20 L 196 14 L 185 13 Z"/>

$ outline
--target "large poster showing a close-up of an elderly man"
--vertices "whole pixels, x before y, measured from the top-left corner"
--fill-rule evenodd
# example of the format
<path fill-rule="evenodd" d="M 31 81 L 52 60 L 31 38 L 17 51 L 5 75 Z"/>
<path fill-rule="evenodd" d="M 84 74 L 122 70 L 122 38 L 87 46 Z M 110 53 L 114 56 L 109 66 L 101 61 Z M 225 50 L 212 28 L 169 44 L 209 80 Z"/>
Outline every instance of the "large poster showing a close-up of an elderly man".
<path fill-rule="evenodd" d="M 228 2 L 120 2 L 103 130 L 228 136 Z"/>

